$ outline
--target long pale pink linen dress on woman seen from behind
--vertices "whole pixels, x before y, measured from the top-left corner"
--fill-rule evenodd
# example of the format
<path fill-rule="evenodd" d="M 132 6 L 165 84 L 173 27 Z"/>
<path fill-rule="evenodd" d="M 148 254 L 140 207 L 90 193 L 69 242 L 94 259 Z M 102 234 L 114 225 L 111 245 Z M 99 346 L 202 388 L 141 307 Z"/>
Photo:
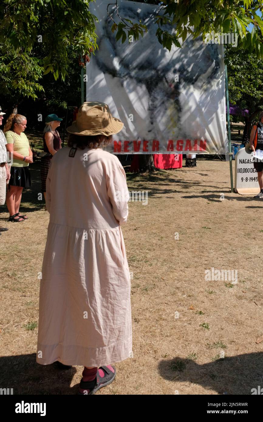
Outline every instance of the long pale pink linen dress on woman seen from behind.
<path fill-rule="evenodd" d="M 102 366 L 132 357 L 130 272 L 120 225 L 129 192 L 117 157 L 66 146 L 46 179 L 50 213 L 36 361 Z"/>

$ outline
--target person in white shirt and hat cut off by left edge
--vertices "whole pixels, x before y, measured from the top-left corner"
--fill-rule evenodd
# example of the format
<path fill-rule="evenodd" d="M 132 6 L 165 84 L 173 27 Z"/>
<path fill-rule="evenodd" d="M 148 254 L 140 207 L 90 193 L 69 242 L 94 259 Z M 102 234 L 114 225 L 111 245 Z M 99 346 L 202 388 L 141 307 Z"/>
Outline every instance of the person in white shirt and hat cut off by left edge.
<path fill-rule="evenodd" d="M 6 182 L 10 179 L 10 171 L 7 164 L 7 151 L 5 148 L 7 142 L 1 128 L 4 115 L 5 113 L 3 113 L 0 106 L 0 205 L 4 205 L 5 203 Z M 5 232 L 7 230 L 8 229 L 6 227 L 0 227 L 0 235 L 1 232 Z"/>

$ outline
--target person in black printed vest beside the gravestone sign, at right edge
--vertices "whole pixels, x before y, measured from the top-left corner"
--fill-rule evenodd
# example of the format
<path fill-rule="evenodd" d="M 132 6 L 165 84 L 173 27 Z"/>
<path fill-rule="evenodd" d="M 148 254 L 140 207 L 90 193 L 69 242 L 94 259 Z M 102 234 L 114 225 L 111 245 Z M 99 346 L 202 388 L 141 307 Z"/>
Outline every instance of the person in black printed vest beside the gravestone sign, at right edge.
<path fill-rule="evenodd" d="M 250 141 L 248 144 L 248 147 L 256 152 L 260 149 L 260 151 L 263 151 L 263 111 L 258 116 L 258 124 L 255 124 L 252 127 L 251 134 L 250 134 Z M 254 159 L 254 168 L 256 169 L 258 173 L 258 184 L 260 187 L 260 192 L 258 195 L 255 195 L 254 198 L 260 198 L 263 199 L 263 162 Z"/>

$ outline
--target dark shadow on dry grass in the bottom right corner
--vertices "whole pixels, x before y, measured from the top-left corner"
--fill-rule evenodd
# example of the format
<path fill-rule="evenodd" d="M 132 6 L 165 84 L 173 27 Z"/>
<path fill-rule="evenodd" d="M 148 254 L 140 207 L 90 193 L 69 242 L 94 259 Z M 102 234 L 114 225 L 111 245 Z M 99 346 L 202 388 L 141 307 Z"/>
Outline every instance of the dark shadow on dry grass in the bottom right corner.
<path fill-rule="evenodd" d="M 198 365 L 191 359 L 175 357 L 172 360 L 162 360 L 158 365 L 163 379 L 192 382 L 219 394 L 229 395 L 251 395 L 252 388 L 263 387 L 262 368 L 262 352 L 225 357 L 203 365 Z"/>

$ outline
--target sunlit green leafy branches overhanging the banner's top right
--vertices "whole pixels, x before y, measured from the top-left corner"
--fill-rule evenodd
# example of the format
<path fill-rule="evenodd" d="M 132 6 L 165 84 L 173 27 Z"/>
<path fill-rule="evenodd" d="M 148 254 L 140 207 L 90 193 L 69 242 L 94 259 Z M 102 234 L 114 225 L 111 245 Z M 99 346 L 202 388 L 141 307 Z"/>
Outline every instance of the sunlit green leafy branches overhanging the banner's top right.
<path fill-rule="evenodd" d="M 250 53 L 255 51 L 258 58 L 263 57 L 262 0 L 163 0 L 156 3 L 160 4 L 155 19 L 156 35 L 169 51 L 172 44 L 180 47 L 180 38 L 184 42 L 187 34 L 194 38 L 202 35 L 205 39 L 212 31 L 234 32 L 239 36 L 239 47 Z M 121 21 L 113 23 L 112 31 L 117 31 L 116 38 L 122 38 L 122 42 L 126 40 L 126 33 L 138 39 L 147 31 L 145 25 L 133 24 L 125 16 L 119 17 Z M 172 31 L 162 28 L 167 24 Z"/>

